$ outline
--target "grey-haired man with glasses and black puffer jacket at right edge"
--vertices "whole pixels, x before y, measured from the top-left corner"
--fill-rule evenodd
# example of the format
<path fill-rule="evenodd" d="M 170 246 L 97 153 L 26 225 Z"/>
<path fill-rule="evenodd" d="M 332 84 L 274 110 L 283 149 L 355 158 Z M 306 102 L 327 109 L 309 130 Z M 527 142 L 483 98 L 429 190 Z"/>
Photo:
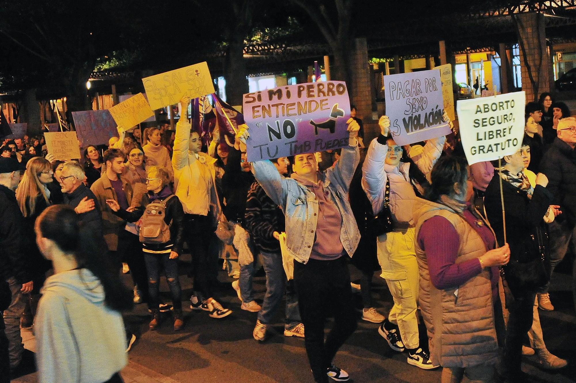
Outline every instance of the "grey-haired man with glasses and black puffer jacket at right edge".
<path fill-rule="evenodd" d="M 548 225 L 552 271 L 576 237 L 576 118 L 562 118 L 556 135 L 540 163 L 540 172 L 548 177 L 547 189 L 554 195 L 553 203 L 562 210 L 562 215 Z M 548 287 L 538 294 L 539 308 L 544 311 L 554 310 Z"/>

